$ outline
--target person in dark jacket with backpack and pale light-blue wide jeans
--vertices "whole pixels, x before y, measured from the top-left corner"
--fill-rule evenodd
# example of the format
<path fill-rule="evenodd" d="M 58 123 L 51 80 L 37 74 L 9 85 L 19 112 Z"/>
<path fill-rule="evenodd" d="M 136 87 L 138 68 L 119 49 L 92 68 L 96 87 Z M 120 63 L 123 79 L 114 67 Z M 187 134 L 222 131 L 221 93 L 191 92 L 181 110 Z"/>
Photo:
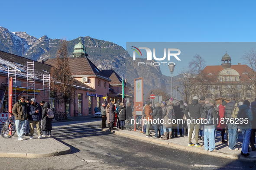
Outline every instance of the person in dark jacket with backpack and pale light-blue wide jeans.
<path fill-rule="evenodd" d="M 205 111 L 201 119 L 204 124 L 204 149 L 205 151 L 216 151 L 215 149 L 215 121 L 217 120 L 217 111 L 214 109 L 215 101 L 211 100 L 205 104 Z M 209 143 L 208 143 L 209 142 Z"/>

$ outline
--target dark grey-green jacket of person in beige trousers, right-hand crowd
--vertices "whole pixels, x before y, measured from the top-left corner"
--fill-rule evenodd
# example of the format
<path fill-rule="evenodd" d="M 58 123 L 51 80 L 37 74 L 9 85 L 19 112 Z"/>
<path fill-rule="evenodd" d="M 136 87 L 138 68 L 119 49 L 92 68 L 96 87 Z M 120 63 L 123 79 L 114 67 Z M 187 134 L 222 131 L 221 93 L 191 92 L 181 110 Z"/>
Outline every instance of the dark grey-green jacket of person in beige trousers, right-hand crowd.
<path fill-rule="evenodd" d="M 190 116 L 188 115 L 188 112 Z M 191 104 L 189 104 L 184 111 L 184 114 L 186 115 L 187 119 L 190 119 L 190 120 L 193 119 L 195 121 L 201 117 L 202 113 L 203 113 L 203 107 L 201 104 L 198 103 L 198 100 L 196 99 L 192 100 Z"/>

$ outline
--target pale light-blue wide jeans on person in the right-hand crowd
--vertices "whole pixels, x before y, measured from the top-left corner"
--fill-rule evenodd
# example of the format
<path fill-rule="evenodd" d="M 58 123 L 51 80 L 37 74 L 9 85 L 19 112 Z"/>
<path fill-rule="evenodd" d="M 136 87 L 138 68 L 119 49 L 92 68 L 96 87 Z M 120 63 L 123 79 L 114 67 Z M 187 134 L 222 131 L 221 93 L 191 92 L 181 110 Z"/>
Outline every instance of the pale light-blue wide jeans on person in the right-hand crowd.
<path fill-rule="evenodd" d="M 214 125 L 204 125 L 204 149 L 206 151 L 215 149 L 215 132 Z"/>

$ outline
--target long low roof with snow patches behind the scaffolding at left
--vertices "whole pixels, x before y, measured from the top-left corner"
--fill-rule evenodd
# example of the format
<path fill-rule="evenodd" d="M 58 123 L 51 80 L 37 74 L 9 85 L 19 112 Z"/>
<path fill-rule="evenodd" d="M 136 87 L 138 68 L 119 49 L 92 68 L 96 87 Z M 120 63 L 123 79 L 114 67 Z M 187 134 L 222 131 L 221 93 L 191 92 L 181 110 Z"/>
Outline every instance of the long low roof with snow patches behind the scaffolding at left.
<path fill-rule="evenodd" d="M 20 57 L 20 56 L 14 55 L 14 54 L 10 54 L 10 53 L 6 53 L 4 51 L 0 51 L 0 64 L 1 65 L 5 65 L 5 66 L 9 66 L 9 67 L 15 67 L 16 66 L 16 68 L 19 68 L 19 69 L 25 71 L 24 73 L 23 72 L 17 72 L 18 76 L 23 76 L 23 77 L 27 76 L 26 75 L 26 65 L 27 65 L 26 62 L 27 61 L 32 62 L 34 60 L 30 60 L 30 59 L 25 58 L 25 57 Z M 13 62 L 15 62 L 15 63 L 13 63 Z M 16 63 L 19 63 L 20 65 L 23 65 L 25 67 L 20 66 Z M 43 75 L 47 75 L 51 72 L 51 69 L 52 69 L 52 66 L 35 61 L 35 77 L 36 78 L 42 79 Z M 46 73 L 43 70 L 45 70 L 49 73 Z M 0 72 L 8 73 L 8 70 L 4 69 L 3 67 L 0 66 Z M 85 85 L 84 83 L 82 83 L 82 82 L 80 82 L 76 79 L 74 79 L 74 84 L 75 84 L 75 86 L 82 87 L 82 88 L 87 88 L 87 90 L 90 90 L 90 91 L 95 91 L 90 86 Z"/>

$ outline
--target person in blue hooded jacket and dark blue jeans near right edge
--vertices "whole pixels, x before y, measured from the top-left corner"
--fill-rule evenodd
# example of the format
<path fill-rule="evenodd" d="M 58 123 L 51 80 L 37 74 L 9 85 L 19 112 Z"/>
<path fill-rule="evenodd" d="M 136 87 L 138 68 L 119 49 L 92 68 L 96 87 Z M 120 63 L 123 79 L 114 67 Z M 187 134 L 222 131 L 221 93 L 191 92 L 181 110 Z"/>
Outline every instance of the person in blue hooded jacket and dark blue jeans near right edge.
<path fill-rule="evenodd" d="M 252 131 L 252 123 L 251 121 L 253 120 L 253 114 L 252 111 L 250 110 L 250 102 L 248 100 L 243 101 L 243 105 L 239 106 L 239 111 L 237 113 L 240 114 L 240 112 L 246 112 L 246 120 L 248 123 L 246 126 L 239 127 L 243 133 L 243 145 L 242 145 L 242 150 L 241 150 L 241 155 L 244 157 L 249 156 L 250 154 L 248 153 L 249 151 L 249 143 L 250 143 L 250 136 L 251 136 L 251 131 Z"/>

